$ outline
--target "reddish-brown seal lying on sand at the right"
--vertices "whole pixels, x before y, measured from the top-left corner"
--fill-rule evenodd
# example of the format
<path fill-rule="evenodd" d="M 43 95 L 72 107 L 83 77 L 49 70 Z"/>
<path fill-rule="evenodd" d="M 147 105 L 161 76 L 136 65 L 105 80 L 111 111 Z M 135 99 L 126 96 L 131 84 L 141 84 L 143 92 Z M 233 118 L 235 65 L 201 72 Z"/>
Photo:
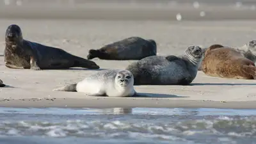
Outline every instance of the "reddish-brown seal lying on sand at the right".
<path fill-rule="evenodd" d="M 256 79 L 253 61 L 234 48 L 211 45 L 205 52 L 202 71 L 208 76 L 234 79 Z"/>

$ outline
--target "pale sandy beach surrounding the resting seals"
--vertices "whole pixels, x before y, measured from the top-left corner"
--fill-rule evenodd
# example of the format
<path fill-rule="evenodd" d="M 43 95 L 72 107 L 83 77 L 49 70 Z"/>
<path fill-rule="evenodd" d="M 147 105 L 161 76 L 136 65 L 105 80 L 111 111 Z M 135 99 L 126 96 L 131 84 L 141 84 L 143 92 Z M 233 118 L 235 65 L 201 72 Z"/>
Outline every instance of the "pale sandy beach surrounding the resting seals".
<path fill-rule="evenodd" d="M 4 33 L 10 24 L 20 26 L 24 39 L 60 47 L 86 58 L 88 49 L 98 49 L 128 36 L 156 40 L 159 55 L 182 54 L 189 45 L 207 47 L 218 43 L 239 47 L 255 39 L 255 20 L 54 20 L 2 17 L 0 79 L 8 86 L 0 88 L 0 107 L 256 108 L 255 80 L 221 79 L 206 76 L 203 72 L 198 72 L 189 86 L 134 86 L 136 92 L 150 95 L 147 98 L 88 97 L 84 93 L 53 92 L 54 88 L 81 81 L 98 70 L 70 68 L 35 71 L 5 67 Z M 99 70 L 123 69 L 132 62 L 99 59 L 93 61 L 100 66 Z"/>

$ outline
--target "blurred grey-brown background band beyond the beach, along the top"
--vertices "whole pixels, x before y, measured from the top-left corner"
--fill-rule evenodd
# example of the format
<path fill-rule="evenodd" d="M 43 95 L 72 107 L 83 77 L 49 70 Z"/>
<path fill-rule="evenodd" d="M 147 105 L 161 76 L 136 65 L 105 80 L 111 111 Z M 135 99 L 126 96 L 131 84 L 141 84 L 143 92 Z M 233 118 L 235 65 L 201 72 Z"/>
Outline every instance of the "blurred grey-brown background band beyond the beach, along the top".
<path fill-rule="evenodd" d="M 256 0 L 1 0 L 1 18 L 251 20 Z"/>

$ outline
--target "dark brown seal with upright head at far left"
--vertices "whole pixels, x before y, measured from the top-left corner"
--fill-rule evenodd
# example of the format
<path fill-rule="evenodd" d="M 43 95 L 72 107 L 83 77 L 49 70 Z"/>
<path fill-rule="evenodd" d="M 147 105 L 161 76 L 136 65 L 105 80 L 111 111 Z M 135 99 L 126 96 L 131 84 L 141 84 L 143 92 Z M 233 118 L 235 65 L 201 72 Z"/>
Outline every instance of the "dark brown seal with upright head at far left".
<path fill-rule="evenodd" d="M 4 61 L 8 68 L 33 70 L 70 67 L 99 68 L 95 62 L 74 56 L 62 49 L 24 40 L 22 31 L 16 24 L 6 29 L 5 44 Z"/>

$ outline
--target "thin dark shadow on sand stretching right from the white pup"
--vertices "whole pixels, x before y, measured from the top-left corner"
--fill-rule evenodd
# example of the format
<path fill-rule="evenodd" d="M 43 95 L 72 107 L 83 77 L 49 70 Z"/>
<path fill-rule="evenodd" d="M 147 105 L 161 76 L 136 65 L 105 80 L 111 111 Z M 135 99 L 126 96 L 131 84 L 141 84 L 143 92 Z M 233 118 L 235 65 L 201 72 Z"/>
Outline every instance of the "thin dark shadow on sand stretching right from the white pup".
<path fill-rule="evenodd" d="M 174 98 L 174 97 L 183 97 L 178 95 L 168 95 L 168 94 L 161 94 L 161 93 L 136 93 L 136 95 L 132 97 L 150 97 L 150 98 Z"/>

